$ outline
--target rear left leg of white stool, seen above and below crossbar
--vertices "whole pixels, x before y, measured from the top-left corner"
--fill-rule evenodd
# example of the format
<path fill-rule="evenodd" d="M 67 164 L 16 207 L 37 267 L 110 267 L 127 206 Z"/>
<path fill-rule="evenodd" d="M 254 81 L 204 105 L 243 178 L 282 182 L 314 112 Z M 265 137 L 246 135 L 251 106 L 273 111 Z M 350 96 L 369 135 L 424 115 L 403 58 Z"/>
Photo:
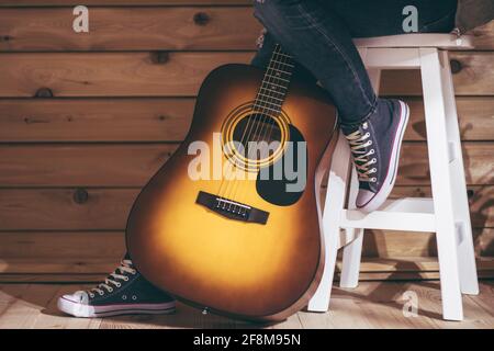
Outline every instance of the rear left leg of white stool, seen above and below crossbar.
<path fill-rule="evenodd" d="M 356 199 L 359 191 L 359 181 L 355 167 L 351 168 L 350 192 L 348 199 L 348 208 L 356 208 Z M 344 247 L 340 287 L 353 288 L 359 284 L 360 260 L 362 257 L 363 228 L 345 228 L 346 237 L 352 238 L 352 241 Z M 351 234 L 349 231 L 352 231 Z"/>

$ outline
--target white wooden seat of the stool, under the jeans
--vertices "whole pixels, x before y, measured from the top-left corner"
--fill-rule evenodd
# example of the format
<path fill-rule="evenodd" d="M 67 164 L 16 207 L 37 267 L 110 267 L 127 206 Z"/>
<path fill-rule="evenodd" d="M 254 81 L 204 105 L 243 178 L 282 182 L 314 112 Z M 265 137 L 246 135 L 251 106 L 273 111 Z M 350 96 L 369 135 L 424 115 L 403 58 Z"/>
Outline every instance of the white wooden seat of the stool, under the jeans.
<path fill-rule="evenodd" d="M 420 33 L 356 38 L 357 47 L 437 47 L 442 49 L 472 49 L 473 36 L 453 33 Z"/>

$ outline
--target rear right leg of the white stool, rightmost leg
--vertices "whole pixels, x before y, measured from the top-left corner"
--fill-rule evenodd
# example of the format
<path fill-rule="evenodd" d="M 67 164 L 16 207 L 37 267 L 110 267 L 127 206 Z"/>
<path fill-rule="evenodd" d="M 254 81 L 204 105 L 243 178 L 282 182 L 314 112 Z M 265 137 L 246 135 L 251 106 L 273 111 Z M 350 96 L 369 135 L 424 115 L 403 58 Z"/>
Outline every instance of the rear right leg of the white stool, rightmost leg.
<path fill-rule="evenodd" d="M 459 236 L 458 259 L 460 262 L 460 287 L 463 294 L 479 294 L 479 280 L 476 276 L 475 251 L 473 248 L 472 225 L 470 223 L 469 201 L 464 180 L 461 138 L 458 126 L 457 105 L 454 103 L 454 89 L 449 66 L 448 52 L 441 52 L 444 63 L 441 75 L 446 109 L 446 128 L 450 145 L 450 172 L 452 192 L 454 194 L 453 214 Z"/>

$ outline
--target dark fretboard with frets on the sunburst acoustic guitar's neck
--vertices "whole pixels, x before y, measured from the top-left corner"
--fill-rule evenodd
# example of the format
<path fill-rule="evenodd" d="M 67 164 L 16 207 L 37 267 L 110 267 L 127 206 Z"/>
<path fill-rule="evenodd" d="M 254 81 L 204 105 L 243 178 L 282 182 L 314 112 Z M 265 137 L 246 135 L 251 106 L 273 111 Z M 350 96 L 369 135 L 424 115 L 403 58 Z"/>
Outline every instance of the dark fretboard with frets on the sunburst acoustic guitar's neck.
<path fill-rule="evenodd" d="M 254 103 L 256 112 L 266 112 L 267 114 L 281 112 L 293 68 L 293 58 L 277 44 Z"/>

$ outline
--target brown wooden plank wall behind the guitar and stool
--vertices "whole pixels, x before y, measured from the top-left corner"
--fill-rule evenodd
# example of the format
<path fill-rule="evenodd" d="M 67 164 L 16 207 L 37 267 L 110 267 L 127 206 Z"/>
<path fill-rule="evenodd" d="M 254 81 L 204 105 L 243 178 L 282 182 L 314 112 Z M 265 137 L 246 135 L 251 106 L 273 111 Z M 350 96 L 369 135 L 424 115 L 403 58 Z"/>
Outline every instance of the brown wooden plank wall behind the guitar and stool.
<path fill-rule="evenodd" d="M 247 0 L 0 0 L 0 281 L 92 281 L 124 251 L 139 188 L 173 152 L 205 75 L 248 63 Z M 451 53 L 482 276 L 494 275 L 494 24 Z M 430 193 L 417 72 L 382 91 L 412 105 L 393 196 Z M 367 279 L 436 278 L 433 235 L 369 233 Z"/>

